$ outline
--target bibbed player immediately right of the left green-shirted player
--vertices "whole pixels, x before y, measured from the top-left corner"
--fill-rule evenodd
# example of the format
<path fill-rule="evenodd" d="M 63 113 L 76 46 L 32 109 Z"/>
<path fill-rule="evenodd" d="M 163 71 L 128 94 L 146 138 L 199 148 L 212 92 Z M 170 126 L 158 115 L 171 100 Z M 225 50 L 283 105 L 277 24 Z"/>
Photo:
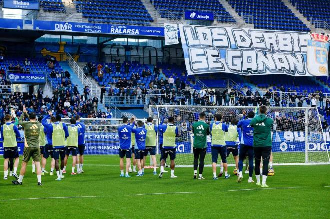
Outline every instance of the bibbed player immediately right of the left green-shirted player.
<path fill-rule="evenodd" d="M 215 115 L 215 122 L 210 126 L 212 134 L 212 168 L 213 168 L 213 179 L 217 180 L 216 177 L 216 162 L 220 154 L 221 160 L 224 167 L 225 178 L 228 179 L 228 164 L 227 164 L 227 149 L 225 146 L 224 135 L 228 131 L 226 124 L 222 123 L 222 115 Z"/>

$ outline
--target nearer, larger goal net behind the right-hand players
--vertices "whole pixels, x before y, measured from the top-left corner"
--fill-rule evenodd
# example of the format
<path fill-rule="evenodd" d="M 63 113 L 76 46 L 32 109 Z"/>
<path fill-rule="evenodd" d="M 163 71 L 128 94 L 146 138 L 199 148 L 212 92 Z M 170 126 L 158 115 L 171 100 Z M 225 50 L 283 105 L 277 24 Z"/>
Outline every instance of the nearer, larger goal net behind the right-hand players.
<path fill-rule="evenodd" d="M 164 106 L 151 105 L 149 114 L 159 121 L 173 116 L 179 128 L 176 138 L 176 159 L 178 166 L 192 166 L 192 123 L 197 121 L 200 112 L 206 113 L 206 122 L 214 121 L 214 115 L 222 114 L 227 125 L 232 118 L 243 119 L 243 111 L 257 110 L 255 107 L 231 106 Z M 326 140 L 317 108 L 303 107 L 268 107 L 267 116 L 274 119 L 272 127 L 272 152 L 274 164 L 312 164 L 330 162 Z M 237 142 L 239 140 L 237 139 Z M 211 137 L 208 137 L 205 165 L 211 165 Z M 234 164 L 233 156 L 228 157 L 228 164 Z"/>

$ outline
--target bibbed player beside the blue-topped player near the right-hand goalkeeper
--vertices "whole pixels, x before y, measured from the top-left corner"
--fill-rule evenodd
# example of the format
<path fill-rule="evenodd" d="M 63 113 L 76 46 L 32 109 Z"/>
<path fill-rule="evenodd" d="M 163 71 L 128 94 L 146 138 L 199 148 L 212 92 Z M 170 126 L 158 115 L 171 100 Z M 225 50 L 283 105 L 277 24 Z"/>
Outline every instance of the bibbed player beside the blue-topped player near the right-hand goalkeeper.
<path fill-rule="evenodd" d="M 238 170 L 238 145 L 237 138 L 241 139 L 242 130 L 237 128 L 238 120 L 236 118 L 231 119 L 231 124 L 228 125 L 228 130 L 225 133 L 225 144 L 227 146 L 227 157 L 230 152 L 234 156 L 236 169 Z"/>

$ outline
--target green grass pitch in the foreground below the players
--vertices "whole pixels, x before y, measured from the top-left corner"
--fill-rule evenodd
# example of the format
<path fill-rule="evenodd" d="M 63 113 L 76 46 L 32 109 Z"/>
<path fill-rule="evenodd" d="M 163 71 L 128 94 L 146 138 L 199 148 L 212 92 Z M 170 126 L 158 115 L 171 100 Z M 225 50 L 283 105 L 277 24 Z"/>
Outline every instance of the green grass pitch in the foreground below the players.
<path fill-rule="evenodd" d="M 330 218 L 330 187 L 325 187 L 330 186 L 329 165 L 275 166 L 275 176 L 267 180 L 269 188 L 296 188 L 227 191 L 260 187 L 248 184 L 247 175 L 240 184 L 236 177 L 212 180 L 210 167 L 204 169 L 205 180 L 193 180 L 192 168 L 177 168 L 177 179 L 170 179 L 169 173 L 159 179 L 152 175 L 151 169 L 140 178 L 134 174 L 131 178 L 121 178 L 118 162 L 117 156 L 86 156 L 85 173 L 66 174 L 59 182 L 55 181 L 55 176 L 46 175 L 42 177 L 42 187 L 36 186 L 31 164 L 22 186 L 12 185 L 10 177 L 2 180 L 1 174 L 0 206 L 7 210 L 1 211 L 0 218 Z M 49 166 L 46 169 L 49 170 Z M 71 166 L 67 170 L 69 173 Z M 232 170 L 230 167 L 230 173 Z M 129 196 L 172 192 L 174 194 Z M 4 201 L 67 196 L 96 197 Z"/>

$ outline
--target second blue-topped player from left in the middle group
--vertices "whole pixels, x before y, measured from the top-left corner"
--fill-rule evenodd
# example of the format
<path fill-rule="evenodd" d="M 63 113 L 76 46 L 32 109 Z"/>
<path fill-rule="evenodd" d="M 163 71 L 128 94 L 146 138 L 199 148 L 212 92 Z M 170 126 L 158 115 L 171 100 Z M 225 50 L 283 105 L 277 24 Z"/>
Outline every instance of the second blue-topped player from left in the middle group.
<path fill-rule="evenodd" d="M 144 172 L 142 171 L 143 166 L 143 155 L 145 152 L 145 140 L 147 130 L 143 128 L 143 122 L 141 120 L 137 121 L 137 128 L 132 131 L 135 133 L 135 159 L 137 162 L 138 173 L 137 177 L 143 176 Z"/>

